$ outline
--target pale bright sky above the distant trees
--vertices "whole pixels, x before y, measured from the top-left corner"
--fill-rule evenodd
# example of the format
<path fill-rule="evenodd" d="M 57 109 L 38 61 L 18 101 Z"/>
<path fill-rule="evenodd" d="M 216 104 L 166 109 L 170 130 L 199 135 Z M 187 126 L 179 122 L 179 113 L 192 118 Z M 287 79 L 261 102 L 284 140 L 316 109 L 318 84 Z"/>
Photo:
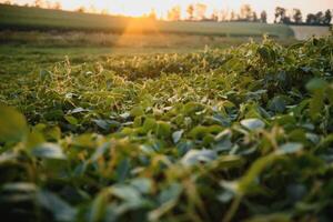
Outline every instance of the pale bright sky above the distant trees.
<path fill-rule="evenodd" d="M 108 9 L 112 14 L 142 16 L 154 9 L 161 17 L 173 6 L 182 7 L 185 10 L 190 3 L 202 2 L 209 6 L 209 11 L 215 9 L 238 10 L 240 6 L 249 3 L 255 11 L 266 10 L 270 21 L 273 19 L 275 7 L 287 9 L 299 8 L 303 14 L 310 12 L 333 9 L 333 0 L 59 0 L 64 9 L 77 9 L 80 6 L 89 8 L 94 6 L 97 9 Z M 31 3 L 33 0 L 16 0 L 18 3 Z M 305 16 L 303 16 L 305 17 Z"/>

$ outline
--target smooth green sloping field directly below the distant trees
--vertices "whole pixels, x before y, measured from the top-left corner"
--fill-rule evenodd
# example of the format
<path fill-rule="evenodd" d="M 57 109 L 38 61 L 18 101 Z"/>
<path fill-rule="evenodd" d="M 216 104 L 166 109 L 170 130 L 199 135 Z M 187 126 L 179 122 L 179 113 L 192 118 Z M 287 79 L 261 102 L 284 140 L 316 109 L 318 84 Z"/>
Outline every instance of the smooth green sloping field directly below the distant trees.
<path fill-rule="evenodd" d="M 186 33 L 221 37 L 293 37 L 282 24 L 244 22 L 165 22 L 0 4 L 0 29 L 85 30 L 118 33 Z"/>

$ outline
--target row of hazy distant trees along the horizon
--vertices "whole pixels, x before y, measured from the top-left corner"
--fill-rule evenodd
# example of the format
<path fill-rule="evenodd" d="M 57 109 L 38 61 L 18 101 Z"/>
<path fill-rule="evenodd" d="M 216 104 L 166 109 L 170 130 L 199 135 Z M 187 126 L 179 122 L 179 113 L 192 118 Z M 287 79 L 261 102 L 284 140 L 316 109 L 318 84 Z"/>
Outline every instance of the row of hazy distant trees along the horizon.
<path fill-rule="evenodd" d="M 6 0 L 3 3 L 13 4 L 12 0 Z M 28 7 L 48 8 L 48 9 L 62 9 L 60 1 L 49 0 L 34 0 L 32 4 L 26 4 Z M 167 19 L 170 21 L 245 21 L 245 22 L 262 22 L 268 23 L 268 12 L 265 10 L 260 13 L 255 12 L 250 4 L 241 6 L 239 11 L 235 10 L 213 10 L 208 16 L 209 7 L 204 3 L 192 3 L 185 8 L 185 14 L 183 14 L 180 6 L 172 7 L 168 10 Z M 83 6 L 77 8 L 77 12 L 92 12 L 108 14 L 107 9 L 98 10 L 91 4 L 89 8 Z M 143 17 L 150 19 L 158 19 L 158 14 L 154 10 Z M 330 26 L 332 21 L 332 11 L 326 10 L 325 12 L 319 11 L 316 13 L 306 14 L 303 19 L 303 13 L 300 9 L 287 10 L 282 7 L 276 7 L 274 12 L 274 23 L 284 24 L 310 24 L 310 26 Z"/>

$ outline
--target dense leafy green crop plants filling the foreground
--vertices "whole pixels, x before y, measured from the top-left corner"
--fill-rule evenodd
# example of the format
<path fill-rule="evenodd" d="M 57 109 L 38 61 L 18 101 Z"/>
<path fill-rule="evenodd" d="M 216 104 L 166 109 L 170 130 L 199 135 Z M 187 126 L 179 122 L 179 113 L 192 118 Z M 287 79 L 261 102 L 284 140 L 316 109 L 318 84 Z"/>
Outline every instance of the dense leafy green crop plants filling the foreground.
<path fill-rule="evenodd" d="M 11 221 L 330 221 L 332 54 L 332 37 L 287 48 L 265 39 L 4 73 L 0 212 Z"/>

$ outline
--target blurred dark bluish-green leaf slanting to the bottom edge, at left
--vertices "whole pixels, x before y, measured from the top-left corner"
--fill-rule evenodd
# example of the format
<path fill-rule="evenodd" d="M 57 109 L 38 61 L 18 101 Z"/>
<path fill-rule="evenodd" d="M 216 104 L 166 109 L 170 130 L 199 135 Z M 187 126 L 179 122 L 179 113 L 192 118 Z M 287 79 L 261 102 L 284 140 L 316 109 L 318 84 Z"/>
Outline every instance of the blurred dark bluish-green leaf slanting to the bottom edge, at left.
<path fill-rule="evenodd" d="M 40 191 L 37 194 L 38 203 L 52 212 L 57 221 L 74 221 L 77 211 L 58 195 L 49 191 Z"/>

